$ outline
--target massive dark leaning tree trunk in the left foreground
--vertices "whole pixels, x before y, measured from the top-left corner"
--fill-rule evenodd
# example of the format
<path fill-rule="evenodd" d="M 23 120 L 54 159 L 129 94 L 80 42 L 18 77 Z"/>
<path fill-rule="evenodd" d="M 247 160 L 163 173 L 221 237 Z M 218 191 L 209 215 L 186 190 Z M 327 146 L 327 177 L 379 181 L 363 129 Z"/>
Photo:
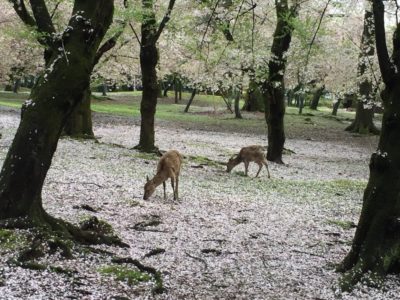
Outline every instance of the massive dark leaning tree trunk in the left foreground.
<path fill-rule="evenodd" d="M 31 1 L 32 11 L 39 28 L 46 27 L 47 8 L 38 2 L 41 5 L 37 7 Z M 23 1 L 15 1 L 15 6 L 29 16 Z M 96 50 L 112 21 L 113 1 L 76 0 L 73 15 L 81 17 L 71 18 L 68 29 L 47 49 L 45 74 L 22 107 L 21 121 L 0 173 L 3 224 L 19 219 L 62 230 L 66 235 L 76 233 L 72 226 L 44 211 L 42 187 L 65 120 L 89 87 Z"/>

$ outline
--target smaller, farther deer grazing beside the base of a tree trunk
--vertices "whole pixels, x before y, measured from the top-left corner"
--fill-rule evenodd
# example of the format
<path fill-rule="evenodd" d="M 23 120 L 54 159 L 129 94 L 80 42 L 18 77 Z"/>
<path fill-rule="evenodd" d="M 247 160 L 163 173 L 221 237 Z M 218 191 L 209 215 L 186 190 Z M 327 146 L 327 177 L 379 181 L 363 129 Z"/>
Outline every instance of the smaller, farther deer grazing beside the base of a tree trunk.
<path fill-rule="evenodd" d="M 235 154 L 229 159 L 228 163 L 226 164 L 227 166 L 226 171 L 229 173 L 230 171 L 232 171 L 234 167 L 243 162 L 245 168 L 245 175 L 247 176 L 249 163 L 253 161 L 259 166 L 256 177 L 258 176 L 258 174 L 260 174 L 262 166 L 265 165 L 268 172 L 268 178 L 270 178 L 271 176 L 269 174 L 268 164 L 267 161 L 265 160 L 265 155 L 263 150 L 264 147 L 258 145 L 243 147 L 242 149 L 240 149 L 239 154 Z"/>

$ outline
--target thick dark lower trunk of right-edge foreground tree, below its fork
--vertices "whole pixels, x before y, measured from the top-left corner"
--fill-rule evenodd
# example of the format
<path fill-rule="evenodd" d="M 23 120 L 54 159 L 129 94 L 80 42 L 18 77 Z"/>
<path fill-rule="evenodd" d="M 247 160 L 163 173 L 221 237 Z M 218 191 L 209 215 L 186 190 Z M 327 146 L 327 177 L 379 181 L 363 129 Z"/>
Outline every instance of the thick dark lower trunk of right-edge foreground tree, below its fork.
<path fill-rule="evenodd" d="M 339 270 L 349 271 L 342 279 L 348 289 L 372 271 L 384 275 L 400 266 L 400 78 L 389 89 L 378 150 L 372 154 L 370 177 L 364 192 L 363 209 L 350 253 Z"/>

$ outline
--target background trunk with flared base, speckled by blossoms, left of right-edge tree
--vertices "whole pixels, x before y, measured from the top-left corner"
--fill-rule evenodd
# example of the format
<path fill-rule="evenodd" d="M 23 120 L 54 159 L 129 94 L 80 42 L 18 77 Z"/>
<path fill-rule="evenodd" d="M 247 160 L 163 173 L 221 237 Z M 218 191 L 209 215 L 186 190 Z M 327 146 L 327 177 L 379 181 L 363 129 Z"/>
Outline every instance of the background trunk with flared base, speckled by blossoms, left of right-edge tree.
<path fill-rule="evenodd" d="M 358 59 L 358 101 L 356 116 L 354 121 L 345 129 L 346 131 L 357 132 L 361 134 L 379 134 L 379 129 L 374 124 L 374 98 L 375 91 L 373 83 L 369 76 L 371 72 L 370 64 L 375 54 L 375 30 L 374 16 L 371 10 L 366 9 L 364 15 L 364 29 L 361 38 L 361 51 Z"/>

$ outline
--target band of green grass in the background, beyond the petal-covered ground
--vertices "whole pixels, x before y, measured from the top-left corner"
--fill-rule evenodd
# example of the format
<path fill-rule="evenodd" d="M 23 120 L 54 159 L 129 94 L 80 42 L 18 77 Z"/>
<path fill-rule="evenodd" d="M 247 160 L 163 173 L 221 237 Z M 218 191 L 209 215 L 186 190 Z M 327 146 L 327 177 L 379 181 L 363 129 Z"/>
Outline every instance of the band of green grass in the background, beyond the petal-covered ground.
<path fill-rule="evenodd" d="M 98 93 L 95 93 L 96 95 Z M 140 117 L 140 94 L 141 92 L 115 92 L 108 93 L 107 98 L 94 99 L 92 110 L 98 113 Z M 183 93 L 185 99 L 188 93 Z M 28 98 L 27 93 L 13 94 L 10 92 L 0 92 L 0 105 L 20 108 L 23 101 Z M 101 98 L 101 97 L 100 97 Z M 112 99 L 112 100 L 110 100 Z M 242 112 L 243 119 L 235 119 L 234 115 L 225 110 L 225 103 L 220 96 L 197 95 L 189 113 L 184 113 L 186 104 L 171 103 L 171 99 L 161 98 L 158 101 L 156 119 L 163 121 L 176 122 L 183 126 L 191 125 L 213 130 L 218 128 L 221 131 L 241 131 L 266 133 L 266 123 L 263 113 Z M 204 107 L 208 107 L 204 112 Z M 303 114 L 298 114 L 298 108 L 288 107 L 285 115 L 285 127 L 288 136 L 296 136 L 296 132 L 310 132 L 313 128 L 330 128 L 343 130 L 348 121 L 354 118 L 354 112 L 340 110 L 337 117 L 331 116 L 331 109 L 319 107 L 317 111 L 307 107 L 303 109 Z"/>

